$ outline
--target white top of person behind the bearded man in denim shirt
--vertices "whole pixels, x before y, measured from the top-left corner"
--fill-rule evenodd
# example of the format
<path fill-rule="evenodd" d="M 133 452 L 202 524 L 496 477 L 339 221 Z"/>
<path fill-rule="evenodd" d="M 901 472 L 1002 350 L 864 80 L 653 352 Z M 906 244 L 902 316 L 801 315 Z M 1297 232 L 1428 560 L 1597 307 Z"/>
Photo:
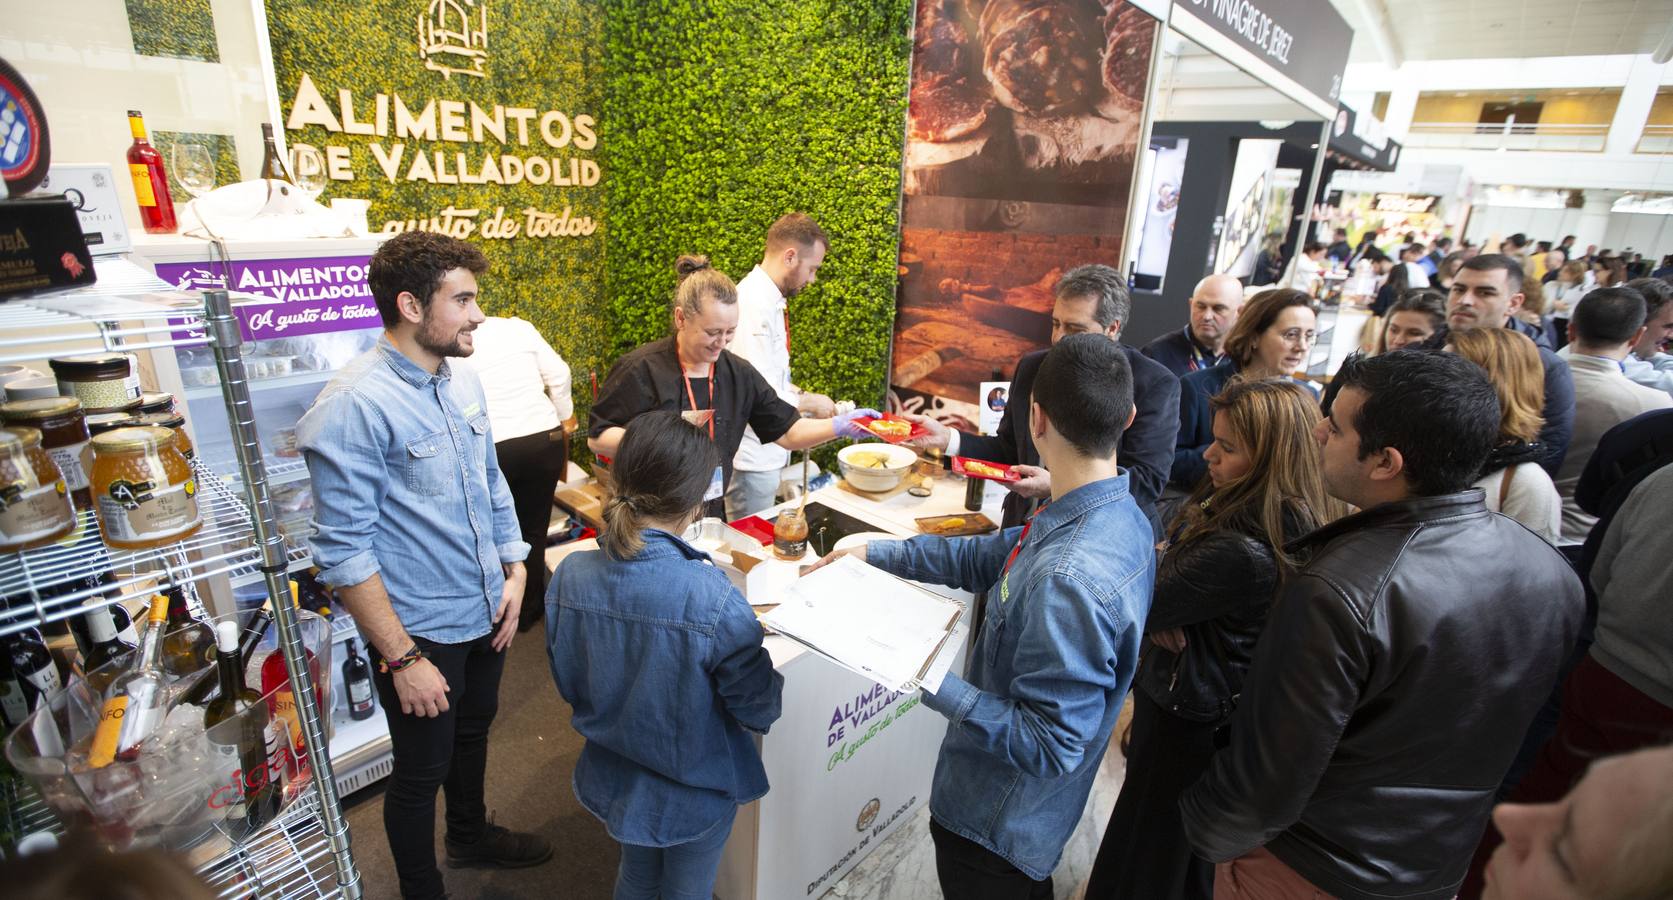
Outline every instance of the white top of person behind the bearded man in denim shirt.
<path fill-rule="evenodd" d="M 468 366 L 482 380 L 495 442 L 550 432 L 574 415 L 569 363 L 534 325 L 489 316 L 472 338 L 470 356 L 452 363 Z"/>

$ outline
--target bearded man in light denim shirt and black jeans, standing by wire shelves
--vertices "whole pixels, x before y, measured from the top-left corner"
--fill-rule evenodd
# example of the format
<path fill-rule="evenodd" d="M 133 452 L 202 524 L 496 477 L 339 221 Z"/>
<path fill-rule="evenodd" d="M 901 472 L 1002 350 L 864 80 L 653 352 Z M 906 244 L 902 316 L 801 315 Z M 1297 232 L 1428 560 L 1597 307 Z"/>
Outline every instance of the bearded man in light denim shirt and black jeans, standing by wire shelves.
<path fill-rule="evenodd" d="M 482 253 L 405 233 L 366 273 L 378 346 L 346 365 L 296 423 L 313 478 L 320 580 L 355 616 L 378 666 L 395 768 L 383 800 L 402 897 L 445 897 L 435 791 L 447 790 L 452 867 L 552 857 L 534 835 L 489 825 L 483 773 L 505 647 L 517 634 L 524 544 L 489 433 L 470 331 L 483 321 Z"/>

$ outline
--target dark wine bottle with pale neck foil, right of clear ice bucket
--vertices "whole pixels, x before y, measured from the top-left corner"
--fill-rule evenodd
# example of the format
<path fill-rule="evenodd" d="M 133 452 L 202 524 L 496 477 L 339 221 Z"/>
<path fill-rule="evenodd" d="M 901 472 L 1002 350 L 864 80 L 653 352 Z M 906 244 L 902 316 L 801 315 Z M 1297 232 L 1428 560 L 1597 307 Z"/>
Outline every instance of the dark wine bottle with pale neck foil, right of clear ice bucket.
<path fill-rule="evenodd" d="M 244 667 L 238 664 L 238 622 L 216 626 L 216 681 L 221 693 L 204 708 L 204 731 L 223 771 L 233 776 L 236 786 L 226 801 L 228 816 L 243 818 L 254 830 L 279 810 L 271 764 L 283 768 L 284 763 L 273 759 L 269 751 L 283 748 L 283 729 L 269 728 L 271 718 L 261 694 L 244 683 Z M 228 721 L 234 726 L 223 726 Z"/>

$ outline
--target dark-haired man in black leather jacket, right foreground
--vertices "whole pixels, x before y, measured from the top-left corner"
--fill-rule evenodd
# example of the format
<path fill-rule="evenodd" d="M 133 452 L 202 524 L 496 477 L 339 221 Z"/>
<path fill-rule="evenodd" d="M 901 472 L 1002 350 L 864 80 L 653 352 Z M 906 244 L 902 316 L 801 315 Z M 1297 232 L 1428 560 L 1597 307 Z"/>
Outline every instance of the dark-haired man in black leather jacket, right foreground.
<path fill-rule="evenodd" d="M 1499 405 L 1482 370 L 1350 361 L 1315 437 L 1363 512 L 1295 542 L 1231 743 L 1181 798 L 1216 897 L 1445 900 L 1579 631 L 1579 579 L 1471 488 Z M 1268 892 L 1263 893 L 1261 887 Z"/>

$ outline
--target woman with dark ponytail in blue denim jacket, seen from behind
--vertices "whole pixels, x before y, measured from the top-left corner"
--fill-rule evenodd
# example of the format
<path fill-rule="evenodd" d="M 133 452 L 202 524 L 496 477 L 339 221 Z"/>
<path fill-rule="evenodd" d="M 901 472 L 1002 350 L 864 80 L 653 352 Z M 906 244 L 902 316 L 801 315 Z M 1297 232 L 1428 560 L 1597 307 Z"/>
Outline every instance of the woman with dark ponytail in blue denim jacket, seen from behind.
<path fill-rule="evenodd" d="M 552 678 L 587 741 L 576 798 L 622 845 L 616 900 L 708 900 L 738 805 L 766 793 L 750 733 L 778 719 L 785 679 L 748 601 L 679 539 L 718 465 L 679 413 L 634 418 L 602 549 L 545 596 Z"/>

